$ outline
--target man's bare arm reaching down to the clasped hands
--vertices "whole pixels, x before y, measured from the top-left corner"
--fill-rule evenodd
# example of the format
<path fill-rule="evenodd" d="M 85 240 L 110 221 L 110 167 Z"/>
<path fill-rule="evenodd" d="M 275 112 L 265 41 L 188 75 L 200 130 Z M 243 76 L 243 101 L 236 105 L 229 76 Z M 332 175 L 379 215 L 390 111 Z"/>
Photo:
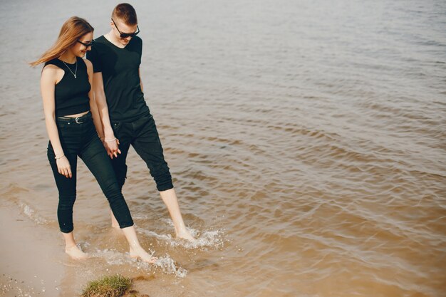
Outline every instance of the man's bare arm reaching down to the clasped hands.
<path fill-rule="evenodd" d="M 100 135 L 100 137 L 103 137 L 103 143 L 105 150 L 107 150 L 107 154 L 113 159 L 113 156 L 118 157 L 118 153 L 120 154 L 121 151 L 118 148 L 119 140 L 115 138 L 115 134 L 113 133 L 113 129 L 110 124 L 102 72 L 96 72 L 93 74 L 93 93 L 103 127 L 103 135 Z"/>

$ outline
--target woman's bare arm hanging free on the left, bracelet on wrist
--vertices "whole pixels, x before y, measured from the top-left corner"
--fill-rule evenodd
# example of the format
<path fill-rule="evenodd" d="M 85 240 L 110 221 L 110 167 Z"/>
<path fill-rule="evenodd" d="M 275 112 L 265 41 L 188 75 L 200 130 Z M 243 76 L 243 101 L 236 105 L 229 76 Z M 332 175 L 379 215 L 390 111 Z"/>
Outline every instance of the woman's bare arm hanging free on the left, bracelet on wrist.
<path fill-rule="evenodd" d="M 61 140 L 56 125 L 56 100 L 54 98 L 54 90 L 56 78 L 58 74 L 56 66 L 45 66 L 41 75 L 41 95 L 43 100 L 43 113 L 45 113 L 46 132 L 53 146 L 56 155 L 56 164 L 58 172 L 66 177 L 72 177 L 71 166 L 67 157 L 63 153 Z"/>

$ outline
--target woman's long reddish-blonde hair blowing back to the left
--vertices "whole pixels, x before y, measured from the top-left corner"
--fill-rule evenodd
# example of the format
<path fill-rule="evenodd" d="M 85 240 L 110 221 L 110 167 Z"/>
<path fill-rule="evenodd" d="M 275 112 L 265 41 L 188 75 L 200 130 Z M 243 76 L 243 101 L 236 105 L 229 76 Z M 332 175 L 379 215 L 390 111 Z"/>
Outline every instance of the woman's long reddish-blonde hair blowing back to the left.
<path fill-rule="evenodd" d="M 63 24 L 56 43 L 54 43 L 48 51 L 43 53 L 38 60 L 29 63 L 29 65 L 38 66 L 40 63 L 45 63 L 53 60 L 53 58 L 62 56 L 68 48 L 73 46 L 73 44 L 79 40 L 79 38 L 94 30 L 95 29 L 88 24 L 88 21 L 85 21 L 85 19 L 79 18 L 78 16 L 71 16 L 71 18 Z"/>

